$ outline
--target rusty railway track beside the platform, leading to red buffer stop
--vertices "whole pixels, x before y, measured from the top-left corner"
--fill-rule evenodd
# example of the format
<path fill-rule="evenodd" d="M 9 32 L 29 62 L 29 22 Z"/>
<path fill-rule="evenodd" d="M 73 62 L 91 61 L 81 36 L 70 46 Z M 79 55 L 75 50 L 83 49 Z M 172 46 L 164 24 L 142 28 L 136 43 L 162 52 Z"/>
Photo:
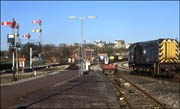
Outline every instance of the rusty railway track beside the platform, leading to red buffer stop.
<path fill-rule="evenodd" d="M 120 75 L 108 75 L 116 94 L 120 106 L 128 109 L 144 109 L 144 108 L 166 108 L 165 104 L 161 104 L 159 101 L 154 99 L 151 95 L 141 90 L 138 86 L 133 84 L 131 81 L 123 78 Z"/>

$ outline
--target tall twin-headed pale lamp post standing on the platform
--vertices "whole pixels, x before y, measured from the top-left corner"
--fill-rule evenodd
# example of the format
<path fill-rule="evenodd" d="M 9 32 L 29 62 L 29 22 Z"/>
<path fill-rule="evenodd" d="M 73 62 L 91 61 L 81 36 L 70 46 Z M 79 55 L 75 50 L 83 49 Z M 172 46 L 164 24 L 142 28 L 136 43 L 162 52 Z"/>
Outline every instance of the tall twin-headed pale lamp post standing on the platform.
<path fill-rule="evenodd" d="M 81 72 L 80 75 L 83 75 L 83 21 L 85 19 L 84 16 L 68 16 L 69 19 L 76 19 L 76 18 L 80 18 L 81 21 Z M 96 16 L 87 16 L 87 18 L 89 19 L 95 19 Z"/>

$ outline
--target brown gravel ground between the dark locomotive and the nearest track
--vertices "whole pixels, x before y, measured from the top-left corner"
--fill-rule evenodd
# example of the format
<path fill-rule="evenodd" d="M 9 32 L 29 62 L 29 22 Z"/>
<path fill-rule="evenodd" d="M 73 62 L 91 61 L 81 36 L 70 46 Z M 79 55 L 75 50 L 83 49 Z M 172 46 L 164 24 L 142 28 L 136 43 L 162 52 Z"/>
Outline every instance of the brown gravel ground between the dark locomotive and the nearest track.
<path fill-rule="evenodd" d="M 159 102 L 167 104 L 168 108 L 180 107 L 180 83 L 133 75 L 126 75 L 124 77 L 145 90 Z"/>

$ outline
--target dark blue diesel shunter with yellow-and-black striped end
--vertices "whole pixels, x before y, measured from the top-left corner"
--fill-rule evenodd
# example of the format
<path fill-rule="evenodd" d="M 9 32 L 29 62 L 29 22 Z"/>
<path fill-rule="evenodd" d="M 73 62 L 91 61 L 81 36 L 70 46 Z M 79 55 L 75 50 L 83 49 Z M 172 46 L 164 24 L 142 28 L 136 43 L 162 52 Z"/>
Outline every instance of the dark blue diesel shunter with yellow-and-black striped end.
<path fill-rule="evenodd" d="M 134 43 L 128 62 L 131 72 L 173 77 L 178 69 L 178 43 L 174 39 Z"/>

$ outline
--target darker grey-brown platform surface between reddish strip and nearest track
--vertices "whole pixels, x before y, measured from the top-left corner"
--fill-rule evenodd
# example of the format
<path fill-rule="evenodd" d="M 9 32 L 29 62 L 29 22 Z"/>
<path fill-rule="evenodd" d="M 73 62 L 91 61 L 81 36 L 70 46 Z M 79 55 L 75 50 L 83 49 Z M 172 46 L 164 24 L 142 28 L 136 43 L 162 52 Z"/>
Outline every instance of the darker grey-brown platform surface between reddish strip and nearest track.
<path fill-rule="evenodd" d="M 21 97 L 9 107 L 120 108 L 120 105 L 104 74 L 91 71 L 70 81 L 57 82 L 46 89 Z"/>

